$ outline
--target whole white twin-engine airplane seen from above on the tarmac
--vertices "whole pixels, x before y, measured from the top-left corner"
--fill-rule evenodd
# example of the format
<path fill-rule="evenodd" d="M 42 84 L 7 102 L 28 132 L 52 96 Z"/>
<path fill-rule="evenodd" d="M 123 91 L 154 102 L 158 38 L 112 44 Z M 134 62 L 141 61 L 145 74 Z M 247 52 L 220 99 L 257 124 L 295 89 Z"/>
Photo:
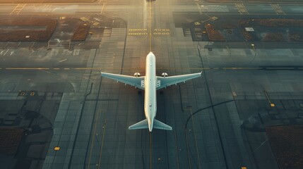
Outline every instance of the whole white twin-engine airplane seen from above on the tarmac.
<path fill-rule="evenodd" d="M 155 119 L 157 113 L 157 96 L 158 89 L 169 87 L 172 84 L 191 80 L 196 77 L 201 77 L 201 73 L 193 73 L 187 75 L 176 75 L 167 77 L 167 73 L 162 73 L 162 77 L 155 74 L 156 62 L 155 55 L 150 51 L 146 56 L 145 61 L 145 76 L 141 77 L 140 73 L 135 73 L 133 76 L 117 75 L 112 73 L 101 73 L 102 77 L 107 77 L 117 82 L 130 84 L 138 89 L 145 90 L 144 98 L 144 113 L 145 120 L 129 126 L 129 130 L 146 129 L 152 132 L 153 128 L 160 130 L 172 130 L 172 127 Z"/>

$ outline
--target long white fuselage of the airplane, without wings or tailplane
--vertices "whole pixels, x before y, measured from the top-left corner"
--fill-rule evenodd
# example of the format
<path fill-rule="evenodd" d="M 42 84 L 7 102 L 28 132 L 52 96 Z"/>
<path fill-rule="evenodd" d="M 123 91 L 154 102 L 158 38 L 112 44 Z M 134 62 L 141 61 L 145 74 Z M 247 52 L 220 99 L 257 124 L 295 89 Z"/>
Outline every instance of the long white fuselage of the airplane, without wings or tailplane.
<path fill-rule="evenodd" d="M 148 130 L 153 130 L 153 121 L 157 112 L 157 77 L 155 75 L 155 55 L 150 52 L 146 56 L 145 62 L 145 98 L 144 98 L 144 113 L 148 120 Z"/>

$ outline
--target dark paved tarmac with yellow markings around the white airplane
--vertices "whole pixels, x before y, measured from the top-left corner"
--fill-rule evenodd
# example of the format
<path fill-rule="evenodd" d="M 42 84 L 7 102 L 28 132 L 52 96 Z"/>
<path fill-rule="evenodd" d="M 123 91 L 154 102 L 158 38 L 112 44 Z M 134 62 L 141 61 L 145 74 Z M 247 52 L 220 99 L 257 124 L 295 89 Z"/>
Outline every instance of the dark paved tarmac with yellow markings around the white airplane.
<path fill-rule="evenodd" d="M 20 99 L 21 91 L 60 93 L 49 147 L 42 158 L 26 158 L 29 168 L 278 168 L 263 129 L 303 123 L 302 43 L 280 42 L 280 48 L 256 42 L 253 48 L 251 42 L 194 42 L 182 27 L 201 19 L 216 22 L 213 16 L 303 15 L 295 4 L 278 6 L 138 0 L 1 4 L 0 18 L 59 20 L 60 31 L 49 42 L 0 42 L 0 103 Z M 69 41 L 64 27 L 71 19 L 92 23 L 85 42 Z M 145 75 L 149 51 L 158 75 L 203 70 L 201 78 L 158 92 L 156 118 L 172 131 L 128 130 L 144 119 L 144 92 L 100 77 L 100 70 Z M 11 168 L 23 162 L 16 163 Z"/>

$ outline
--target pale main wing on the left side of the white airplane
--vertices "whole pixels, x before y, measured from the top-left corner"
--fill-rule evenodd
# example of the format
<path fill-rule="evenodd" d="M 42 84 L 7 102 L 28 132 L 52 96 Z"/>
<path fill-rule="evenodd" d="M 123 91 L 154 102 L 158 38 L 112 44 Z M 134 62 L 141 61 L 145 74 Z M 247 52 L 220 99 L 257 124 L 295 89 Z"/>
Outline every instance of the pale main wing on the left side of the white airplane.
<path fill-rule="evenodd" d="M 102 72 L 100 73 L 102 77 L 107 77 L 109 79 L 116 80 L 117 82 L 129 84 L 139 89 L 144 89 L 144 77 L 132 77 L 128 75 L 117 75 L 117 74 L 102 73 Z"/>

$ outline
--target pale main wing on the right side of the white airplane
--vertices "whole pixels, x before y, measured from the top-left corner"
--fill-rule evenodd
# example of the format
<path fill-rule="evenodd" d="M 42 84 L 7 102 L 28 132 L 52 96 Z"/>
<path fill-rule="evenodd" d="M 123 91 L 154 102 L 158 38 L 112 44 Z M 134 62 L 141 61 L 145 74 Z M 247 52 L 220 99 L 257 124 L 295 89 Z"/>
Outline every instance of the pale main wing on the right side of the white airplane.
<path fill-rule="evenodd" d="M 162 89 L 164 87 L 169 87 L 172 84 L 177 84 L 179 82 L 185 82 L 186 80 L 191 80 L 196 77 L 201 77 L 201 73 L 193 73 L 193 74 L 187 74 L 187 75 L 176 75 L 176 76 L 170 76 L 170 77 L 158 77 L 157 79 L 160 80 L 160 86 L 157 87 L 157 89 Z"/>

